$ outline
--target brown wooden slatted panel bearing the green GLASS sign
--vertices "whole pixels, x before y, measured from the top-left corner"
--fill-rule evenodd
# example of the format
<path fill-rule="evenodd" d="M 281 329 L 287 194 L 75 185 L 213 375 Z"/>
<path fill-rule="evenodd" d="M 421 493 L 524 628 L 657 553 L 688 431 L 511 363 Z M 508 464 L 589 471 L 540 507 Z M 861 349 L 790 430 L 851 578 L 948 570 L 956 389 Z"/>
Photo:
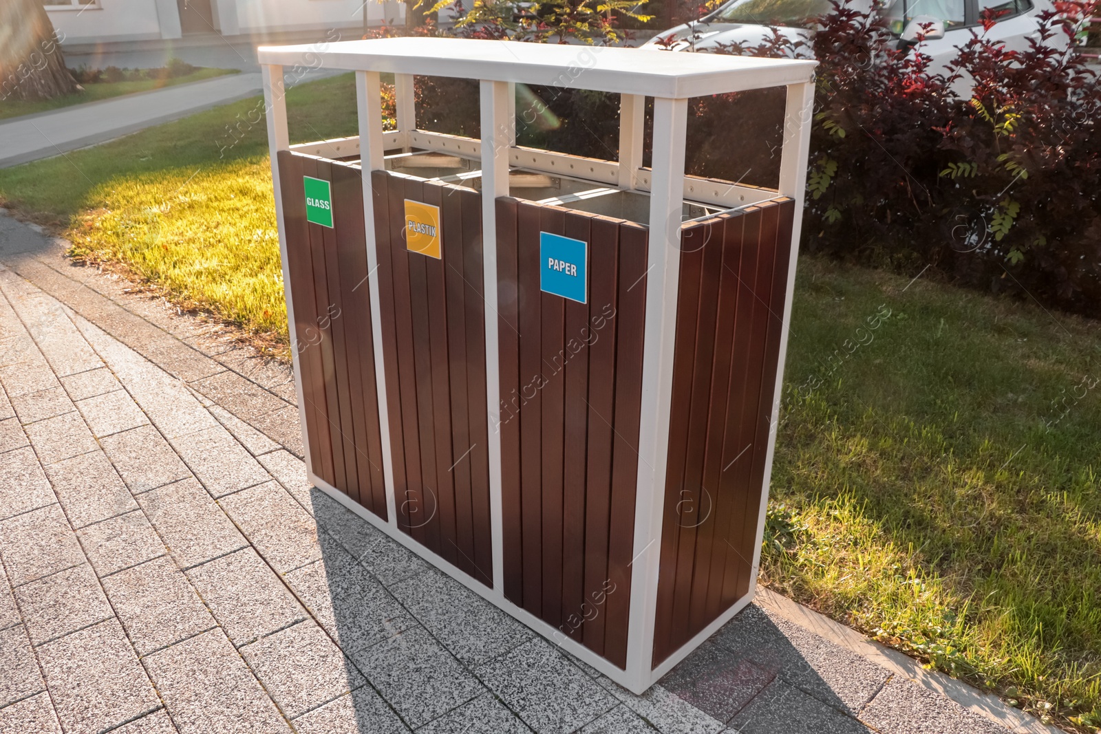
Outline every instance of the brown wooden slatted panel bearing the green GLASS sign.
<path fill-rule="evenodd" d="M 279 171 L 310 469 L 385 519 L 360 172 L 288 151 Z M 330 183 L 331 228 L 306 220 L 304 176 Z"/>

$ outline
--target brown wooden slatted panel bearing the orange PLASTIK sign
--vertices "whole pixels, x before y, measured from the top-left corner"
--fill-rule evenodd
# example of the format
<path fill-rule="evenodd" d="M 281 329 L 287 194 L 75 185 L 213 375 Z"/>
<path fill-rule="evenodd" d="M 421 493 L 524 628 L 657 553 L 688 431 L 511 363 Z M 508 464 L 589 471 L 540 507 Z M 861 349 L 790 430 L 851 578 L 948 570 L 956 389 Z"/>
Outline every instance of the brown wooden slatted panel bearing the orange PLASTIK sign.
<path fill-rule="evenodd" d="M 371 174 L 397 525 L 493 583 L 481 195 Z M 439 208 L 439 258 L 406 248 L 405 200 Z"/>

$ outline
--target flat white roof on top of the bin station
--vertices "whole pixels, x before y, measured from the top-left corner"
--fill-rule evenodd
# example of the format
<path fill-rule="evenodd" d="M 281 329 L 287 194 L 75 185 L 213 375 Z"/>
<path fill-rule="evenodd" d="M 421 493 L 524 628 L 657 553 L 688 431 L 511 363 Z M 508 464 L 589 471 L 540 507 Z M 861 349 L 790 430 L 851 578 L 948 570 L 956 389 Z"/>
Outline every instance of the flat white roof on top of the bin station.
<path fill-rule="evenodd" d="M 809 81 L 817 62 L 468 39 L 261 46 L 261 64 L 519 81 L 671 99 Z"/>

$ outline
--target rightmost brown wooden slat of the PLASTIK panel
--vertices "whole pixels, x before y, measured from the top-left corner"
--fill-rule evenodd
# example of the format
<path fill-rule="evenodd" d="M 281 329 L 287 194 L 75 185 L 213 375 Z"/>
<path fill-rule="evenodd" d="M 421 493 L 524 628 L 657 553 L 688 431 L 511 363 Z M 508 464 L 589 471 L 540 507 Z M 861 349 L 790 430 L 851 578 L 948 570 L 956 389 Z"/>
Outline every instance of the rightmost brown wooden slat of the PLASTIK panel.
<path fill-rule="evenodd" d="M 482 270 L 481 194 L 460 191 L 462 200 L 462 269 L 467 319 L 467 415 L 473 449 L 470 461 L 476 578 L 493 584 L 493 529 L 489 499 L 489 420 L 486 415 L 486 300 Z"/>

